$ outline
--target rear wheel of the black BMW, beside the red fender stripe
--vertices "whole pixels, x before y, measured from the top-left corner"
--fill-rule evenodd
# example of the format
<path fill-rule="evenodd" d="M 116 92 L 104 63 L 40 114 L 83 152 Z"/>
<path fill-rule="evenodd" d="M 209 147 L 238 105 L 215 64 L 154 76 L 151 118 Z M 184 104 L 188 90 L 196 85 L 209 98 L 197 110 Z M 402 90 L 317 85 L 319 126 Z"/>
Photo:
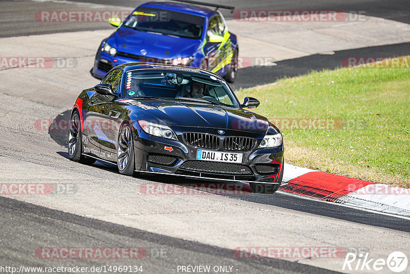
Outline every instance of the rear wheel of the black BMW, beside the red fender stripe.
<path fill-rule="evenodd" d="M 80 115 L 78 110 L 75 109 L 71 114 L 70 126 L 67 134 L 68 156 L 71 161 L 91 165 L 95 162 L 95 159 L 81 155 L 83 140 L 81 138 L 80 124 Z"/>

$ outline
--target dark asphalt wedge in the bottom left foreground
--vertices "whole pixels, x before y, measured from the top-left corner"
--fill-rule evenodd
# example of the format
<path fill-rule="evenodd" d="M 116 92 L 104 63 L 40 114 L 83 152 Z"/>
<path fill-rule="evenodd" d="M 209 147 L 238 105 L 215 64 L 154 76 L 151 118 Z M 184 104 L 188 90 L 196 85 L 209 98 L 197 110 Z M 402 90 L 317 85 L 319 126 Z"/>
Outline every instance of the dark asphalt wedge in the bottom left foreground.
<path fill-rule="evenodd" d="M 42 243 L 43 246 L 142 247 L 147 250 L 147 256 L 134 260 L 132 265 L 142 266 L 148 273 L 172 273 L 177 265 L 214 265 L 216 262 L 217 265 L 233 266 L 234 272 L 240 273 L 337 273 L 280 259 L 239 259 L 233 256 L 233 250 L 230 249 L 167 237 L 3 197 L 0 198 L 0 206 L 0 228 L 4 233 L 2 245 L 3 249 L 6 247 L 10 251 L 2 256 L 2 262 L 10 261 L 15 266 L 61 266 L 58 260 L 46 260 L 41 264 L 36 260 L 38 258 L 32 259 L 33 250 L 39 247 L 38 243 Z M 16 234 L 22 239 L 15 238 Z M 60 236 L 58 242 L 53 236 Z M 17 259 L 16 253 L 26 256 Z M 121 259 L 110 260 L 109 263 L 98 259 L 67 259 L 64 263 L 80 267 L 124 265 Z"/>

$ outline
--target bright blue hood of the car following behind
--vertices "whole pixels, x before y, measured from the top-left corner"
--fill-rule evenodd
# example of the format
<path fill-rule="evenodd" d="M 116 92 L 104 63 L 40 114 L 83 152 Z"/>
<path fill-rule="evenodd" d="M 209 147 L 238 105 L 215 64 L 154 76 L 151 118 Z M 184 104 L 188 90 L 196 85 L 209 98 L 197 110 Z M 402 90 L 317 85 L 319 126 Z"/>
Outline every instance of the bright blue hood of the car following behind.
<path fill-rule="evenodd" d="M 138 31 L 127 27 L 119 28 L 107 42 L 121 52 L 143 55 L 140 51 L 145 49 L 146 57 L 163 59 L 193 56 L 200 48 L 200 40 Z"/>

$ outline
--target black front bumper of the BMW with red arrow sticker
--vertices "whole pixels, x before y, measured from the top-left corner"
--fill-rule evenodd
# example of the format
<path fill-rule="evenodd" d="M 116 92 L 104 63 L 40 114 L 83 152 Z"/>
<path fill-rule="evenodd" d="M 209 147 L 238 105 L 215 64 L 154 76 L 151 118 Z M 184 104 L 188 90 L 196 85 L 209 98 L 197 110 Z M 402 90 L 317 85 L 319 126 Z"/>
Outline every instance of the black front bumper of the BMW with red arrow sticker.
<path fill-rule="evenodd" d="M 283 167 L 283 145 L 257 149 L 260 140 L 250 151 L 214 151 L 242 153 L 241 163 L 196 160 L 198 149 L 188 145 L 182 132 L 176 132 L 178 141 L 158 138 L 142 131 L 134 123 L 135 171 L 180 175 L 192 179 L 223 180 L 228 182 L 278 184 Z M 187 131 L 192 131 L 189 128 Z M 182 129 L 183 130 L 183 129 Z M 199 132 L 199 131 L 198 131 Z M 227 135 L 232 135 L 228 132 Z M 221 136 L 223 140 L 225 136 Z"/>

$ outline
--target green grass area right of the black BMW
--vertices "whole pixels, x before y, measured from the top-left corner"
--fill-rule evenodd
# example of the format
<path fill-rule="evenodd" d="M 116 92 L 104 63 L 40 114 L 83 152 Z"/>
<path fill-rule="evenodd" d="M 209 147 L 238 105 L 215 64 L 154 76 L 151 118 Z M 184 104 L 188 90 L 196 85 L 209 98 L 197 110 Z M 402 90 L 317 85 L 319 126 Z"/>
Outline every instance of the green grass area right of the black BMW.
<path fill-rule="evenodd" d="M 280 122 L 286 162 L 410 186 L 410 69 L 325 70 L 237 95 L 256 97 L 261 104 L 255 112 Z M 293 119 L 340 119 L 343 126 L 309 130 L 283 124 Z"/>

